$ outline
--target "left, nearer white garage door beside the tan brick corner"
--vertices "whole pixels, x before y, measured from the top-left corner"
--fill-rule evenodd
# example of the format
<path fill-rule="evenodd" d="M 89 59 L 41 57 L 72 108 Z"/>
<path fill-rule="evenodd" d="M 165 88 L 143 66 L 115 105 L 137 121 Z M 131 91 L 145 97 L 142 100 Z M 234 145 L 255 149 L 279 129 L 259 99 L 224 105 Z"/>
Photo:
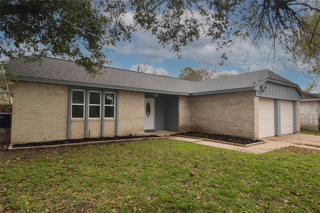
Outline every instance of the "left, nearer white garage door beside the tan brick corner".
<path fill-rule="evenodd" d="M 275 136 L 274 100 L 259 97 L 259 138 Z"/>

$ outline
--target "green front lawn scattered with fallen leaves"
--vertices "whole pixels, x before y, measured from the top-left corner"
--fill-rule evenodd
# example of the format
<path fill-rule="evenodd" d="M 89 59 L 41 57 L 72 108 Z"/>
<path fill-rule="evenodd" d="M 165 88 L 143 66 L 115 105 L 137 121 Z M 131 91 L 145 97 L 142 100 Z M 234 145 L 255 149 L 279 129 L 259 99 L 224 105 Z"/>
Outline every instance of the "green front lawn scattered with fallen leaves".
<path fill-rule="evenodd" d="M 4 210 L 320 211 L 316 150 L 289 147 L 255 155 L 152 140 L 43 152 L 2 157 Z"/>

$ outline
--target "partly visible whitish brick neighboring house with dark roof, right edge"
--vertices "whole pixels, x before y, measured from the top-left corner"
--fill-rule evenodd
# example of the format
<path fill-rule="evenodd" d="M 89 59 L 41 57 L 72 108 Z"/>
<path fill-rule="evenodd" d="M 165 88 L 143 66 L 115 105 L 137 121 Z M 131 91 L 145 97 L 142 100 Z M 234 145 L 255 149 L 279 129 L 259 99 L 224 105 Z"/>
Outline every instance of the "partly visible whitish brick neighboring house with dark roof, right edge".
<path fill-rule="evenodd" d="M 304 98 L 300 102 L 300 127 L 318 130 L 320 116 L 320 95 L 303 92 Z"/>

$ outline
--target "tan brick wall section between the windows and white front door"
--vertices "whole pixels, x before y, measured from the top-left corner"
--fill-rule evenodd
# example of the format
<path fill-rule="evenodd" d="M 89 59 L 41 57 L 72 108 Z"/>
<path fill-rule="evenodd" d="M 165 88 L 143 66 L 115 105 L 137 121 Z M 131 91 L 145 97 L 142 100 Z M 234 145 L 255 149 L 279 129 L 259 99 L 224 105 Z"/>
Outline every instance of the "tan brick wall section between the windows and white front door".
<path fill-rule="evenodd" d="M 144 134 L 144 92 L 119 90 L 119 135 Z"/>

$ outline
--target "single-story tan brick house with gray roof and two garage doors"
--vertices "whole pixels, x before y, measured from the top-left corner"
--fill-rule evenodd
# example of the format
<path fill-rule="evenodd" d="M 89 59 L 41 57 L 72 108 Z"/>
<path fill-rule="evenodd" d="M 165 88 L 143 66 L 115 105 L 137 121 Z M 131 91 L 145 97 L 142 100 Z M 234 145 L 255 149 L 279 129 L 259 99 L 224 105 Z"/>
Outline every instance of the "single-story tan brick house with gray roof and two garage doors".
<path fill-rule="evenodd" d="M 7 74 L 19 75 L 12 144 L 145 130 L 252 139 L 300 131 L 300 87 L 267 69 L 194 82 L 107 67 L 92 78 L 72 61 L 42 59 L 9 60 Z"/>

